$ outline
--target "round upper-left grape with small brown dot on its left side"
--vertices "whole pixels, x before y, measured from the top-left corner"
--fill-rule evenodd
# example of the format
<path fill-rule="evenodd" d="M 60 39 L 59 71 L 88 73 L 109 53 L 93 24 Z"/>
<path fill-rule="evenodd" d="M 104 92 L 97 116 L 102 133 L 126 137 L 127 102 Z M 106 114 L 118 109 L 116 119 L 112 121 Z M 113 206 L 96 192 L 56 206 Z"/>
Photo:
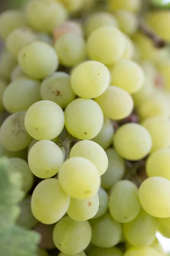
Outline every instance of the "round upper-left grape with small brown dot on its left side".
<path fill-rule="evenodd" d="M 18 61 L 23 72 L 34 79 L 44 79 L 54 73 L 59 65 L 55 50 L 40 41 L 24 47 L 18 55 Z"/>

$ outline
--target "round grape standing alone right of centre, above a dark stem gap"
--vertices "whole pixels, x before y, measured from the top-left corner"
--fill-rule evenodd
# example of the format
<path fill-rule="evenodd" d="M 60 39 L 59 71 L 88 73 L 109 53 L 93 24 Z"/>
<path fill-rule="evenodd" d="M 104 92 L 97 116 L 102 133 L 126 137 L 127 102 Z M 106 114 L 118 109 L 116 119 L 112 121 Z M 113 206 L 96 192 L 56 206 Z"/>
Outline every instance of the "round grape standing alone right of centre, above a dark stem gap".
<path fill-rule="evenodd" d="M 135 161 L 149 154 L 152 139 L 142 125 L 129 123 L 118 128 L 113 136 L 113 145 L 120 156 Z"/>

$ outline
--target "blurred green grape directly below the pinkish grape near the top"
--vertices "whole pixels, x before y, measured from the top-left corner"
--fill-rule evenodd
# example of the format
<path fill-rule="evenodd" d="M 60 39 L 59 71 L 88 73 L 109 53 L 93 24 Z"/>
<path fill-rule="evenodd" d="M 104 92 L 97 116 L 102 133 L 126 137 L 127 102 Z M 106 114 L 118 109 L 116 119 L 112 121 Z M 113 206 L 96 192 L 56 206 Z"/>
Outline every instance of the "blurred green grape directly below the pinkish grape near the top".
<path fill-rule="evenodd" d="M 59 37 L 54 48 L 59 63 L 65 67 L 73 67 L 86 59 L 85 41 L 81 35 L 66 33 Z"/>

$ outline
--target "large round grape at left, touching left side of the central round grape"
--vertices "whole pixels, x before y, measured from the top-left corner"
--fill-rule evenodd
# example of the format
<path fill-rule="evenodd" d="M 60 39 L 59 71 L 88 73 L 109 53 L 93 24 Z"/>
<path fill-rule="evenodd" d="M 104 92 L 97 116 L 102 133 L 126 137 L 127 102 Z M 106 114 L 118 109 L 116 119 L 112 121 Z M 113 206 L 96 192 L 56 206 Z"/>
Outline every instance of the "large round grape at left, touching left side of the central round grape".
<path fill-rule="evenodd" d="M 64 128 L 64 112 L 55 102 L 36 102 L 26 112 L 25 126 L 34 139 L 53 140 Z"/>

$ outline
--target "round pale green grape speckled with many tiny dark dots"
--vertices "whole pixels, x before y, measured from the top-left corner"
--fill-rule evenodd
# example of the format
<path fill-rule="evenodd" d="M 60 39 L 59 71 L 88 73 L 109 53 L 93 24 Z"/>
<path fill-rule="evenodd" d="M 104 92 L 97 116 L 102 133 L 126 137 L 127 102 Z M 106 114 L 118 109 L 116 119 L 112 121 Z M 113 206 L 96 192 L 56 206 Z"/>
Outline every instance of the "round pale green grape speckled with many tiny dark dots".
<path fill-rule="evenodd" d="M 86 61 L 76 67 L 71 74 L 71 87 L 74 93 L 85 99 L 100 96 L 108 88 L 109 83 L 110 74 L 107 67 L 97 61 Z"/>

